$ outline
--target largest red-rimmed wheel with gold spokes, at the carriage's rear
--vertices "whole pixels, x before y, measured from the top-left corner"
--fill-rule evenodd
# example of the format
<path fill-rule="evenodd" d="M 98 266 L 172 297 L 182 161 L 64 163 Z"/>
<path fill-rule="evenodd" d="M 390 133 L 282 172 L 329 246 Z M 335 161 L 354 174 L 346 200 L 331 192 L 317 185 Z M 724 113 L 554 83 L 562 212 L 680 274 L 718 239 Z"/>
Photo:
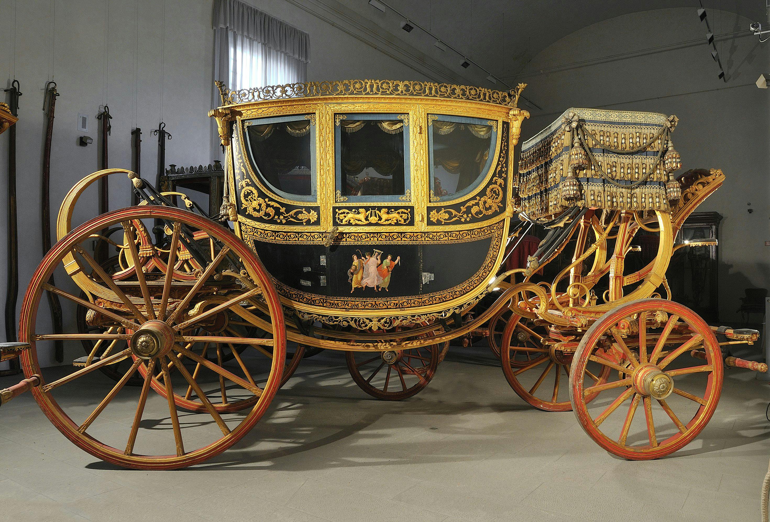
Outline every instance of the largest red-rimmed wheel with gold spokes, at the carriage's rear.
<path fill-rule="evenodd" d="M 192 246 L 196 241 L 193 236 L 200 233 L 212 239 L 210 252 L 196 253 L 196 261 L 203 269 L 194 281 L 177 280 L 169 269 L 152 276 L 135 270 L 116 282 L 94 261 L 89 251 L 92 237 L 107 227 L 122 226 L 128 237 L 127 255 L 134 266 L 139 266 L 136 234 L 145 229 L 142 220 L 152 219 L 165 223 L 172 245 L 184 242 Z M 172 246 L 171 255 L 176 251 Z M 49 283 L 55 272 L 66 270 L 72 274 L 73 269 L 87 274 L 95 283 L 92 289 L 99 295 L 93 301 L 73 295 L 63 273 L 56 276 L 62 282 L 59 286 Z M 53 333 L 45 314 L 39 314 L 44 291 L 89 309 L 93 323 L 106 329 L 119 326 L 122 331 Z M 228 331 L 219 322 L 223 315 L 257 302 L 269 310 L 270 327 L 263 336 L 249 337 L 246 330 Z M 233 233 L 209 219 L 163 206 L 109 212 L 56 243 L 29 283 L 19 338 L 31 345 L 22 355 L 25 375 L 41 376 L 41 385 L 32 393 L 55 427 L 95 457 L 145 470 L 199 463 L 240 440 L 273 400 L 286 362 L 283 313 L 259 259 Z M 39 366 L 39 346 L 52 340 L 76 345 L 84 340 L 119 340 L 125 344 L 98 362 L 62 375 L 61 367 Z M 206 343 L 219 346 L 220 353 L 203 356 L 191 350 L 196 344 Z M 232 350 L 232 360 L 226 362 L 221 351 L 230 344 L 236 350 Z M 239 346 L 243 351 L 237 350 Z M 79 346 L 65 348 L 65 353 L 82 353 Z M 130 365 L 117 383 L 105 383 L 99 372 L 94 373 L 120 360 L 129 360 Z M 137 374 L 142 376 L 142 386 L 125 386 Z M 150 394 L 150 388 L 163 390 L 165 397 Z M 180 414 L 175 397 L 185 397 L 188 389 L 192 389 L 190 400 L 197 405 L 192 405 L 191 413 Z M 125 422 L 102 414 L 118 395 L 123 405 L 127 401 L 136 405 L 132 418 Z M 240 404 L 238 408 L 223 407 L 232 403 Z M 241 407 L 244 404 L 249 407 Z"/>

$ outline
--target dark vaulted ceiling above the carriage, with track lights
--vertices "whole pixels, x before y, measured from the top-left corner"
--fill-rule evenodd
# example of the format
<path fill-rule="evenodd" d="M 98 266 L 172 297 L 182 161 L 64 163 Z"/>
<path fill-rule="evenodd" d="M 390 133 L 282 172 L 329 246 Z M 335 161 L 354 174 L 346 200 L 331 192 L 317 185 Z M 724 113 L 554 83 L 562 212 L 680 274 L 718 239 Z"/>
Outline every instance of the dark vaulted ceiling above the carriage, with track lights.
<path fill-rule="evenodd" d="M 548 45 L 588 25 L 633 12 L 661 8 L 691 8 L 692 24 L 698 20 L 698 0 L 380 0 L 403 13 L 404 17 L 386 9 L 380 12 L 367 0 L 340 0 L 340 3 L 370 20 L 394 38 L 423 52 L 429 59 L 444 65 L 462 77 L 484 85 L 486 72 L 470 65 L 460 67 L 462 57 L 434 46 L 435 39 L 415 28 L 401 29 L 404 18 L 432 32 L 460 53 L 477 62 L 481 68 L 504 82 L 514 80 L 534 55 Z M 735 12 L 746 18 L 767 22 L 765 0 L 715 0 L 703 2 L 715 34 L 735 31 L 719 27 L 718 11 Z M 745 28 L 748 32 L 748 27 Z M 650 42 L 651 45 L 654 42 Z M 568 57 L 565 57 L 565 61 Z M 475 70 L 474 70 L 475 69 Z M 490 85 L 490 84 L 487 84 Z M 498 85 L 499 86 L 499 85 Z"/>

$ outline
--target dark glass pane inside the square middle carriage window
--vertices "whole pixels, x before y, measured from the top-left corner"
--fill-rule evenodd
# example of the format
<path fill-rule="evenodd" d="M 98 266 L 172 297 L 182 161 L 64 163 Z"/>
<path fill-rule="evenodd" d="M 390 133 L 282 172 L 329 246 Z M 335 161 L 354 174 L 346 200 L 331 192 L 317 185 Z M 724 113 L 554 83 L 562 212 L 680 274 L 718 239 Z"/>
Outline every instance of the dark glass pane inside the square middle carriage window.
<path fill-rule="evenodd" d="M 404 193 L 404 126 L 400 119 L 340 121 L 343 196 Z"/>

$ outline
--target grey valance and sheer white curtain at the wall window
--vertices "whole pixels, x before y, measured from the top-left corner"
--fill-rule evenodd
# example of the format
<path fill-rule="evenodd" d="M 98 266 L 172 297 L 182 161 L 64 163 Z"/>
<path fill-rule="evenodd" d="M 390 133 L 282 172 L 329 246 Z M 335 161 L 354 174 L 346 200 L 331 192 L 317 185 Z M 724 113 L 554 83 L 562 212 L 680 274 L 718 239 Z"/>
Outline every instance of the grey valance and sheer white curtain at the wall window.
<path fill-rule="evenodd" d="M 239 0 L 214 0 L 214 79 L 228 89 L 305 82 L 310 62 L 306 32 Z M 212 105 L 221 105 L 212 85 Z M 219 138 L 213 124 L 213 159 Z"/>

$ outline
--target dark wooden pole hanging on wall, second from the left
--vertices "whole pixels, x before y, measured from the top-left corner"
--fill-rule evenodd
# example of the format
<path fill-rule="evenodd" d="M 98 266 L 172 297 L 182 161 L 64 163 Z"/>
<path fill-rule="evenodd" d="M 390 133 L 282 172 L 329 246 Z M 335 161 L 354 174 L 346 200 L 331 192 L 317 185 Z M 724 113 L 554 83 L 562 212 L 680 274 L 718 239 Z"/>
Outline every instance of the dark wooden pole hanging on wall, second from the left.
<path fill-rule="evenodd" d="M 43 145 L 43 170 L 40 183 L 41 189 L 41 237 L 43 243 L 43 256 L 51 249 L 51 143 L 53 139 L 53 119 L 56 109 L 56 98 L 59 92 L 56 91 L 56 82 L 45 84 L 45 100 L 43 101 L 43 111 L 48 109 L 47 123 L 45 127 L 45 143 Z M 53 279 L 53 276 L 51 276 Z M 54 284 L 54 283 L 51 283 Z M 46 292 L 48 295 L 49 308 L 51 309 L 51 320 L 55 333 L 64 331 L 64 321 L 62 320 L 62 303 L 59 302 L 59 296 L 55 293 Z M 57 363 L 64 361 L 64 341 L 54 342 L 54 356 Z"/>

